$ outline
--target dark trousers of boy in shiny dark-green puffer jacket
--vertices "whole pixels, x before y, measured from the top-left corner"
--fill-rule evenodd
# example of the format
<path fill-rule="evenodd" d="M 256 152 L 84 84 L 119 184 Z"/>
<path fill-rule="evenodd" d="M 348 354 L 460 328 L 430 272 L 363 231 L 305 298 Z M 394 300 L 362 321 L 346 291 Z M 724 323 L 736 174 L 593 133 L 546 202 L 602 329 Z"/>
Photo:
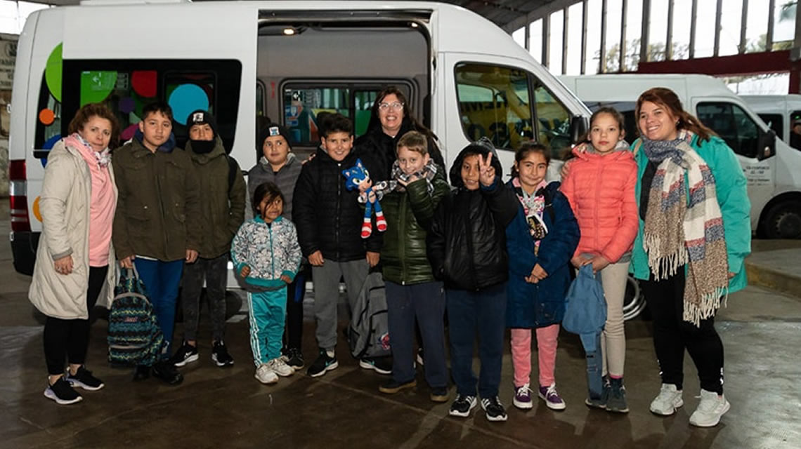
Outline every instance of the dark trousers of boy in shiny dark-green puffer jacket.
<path fill-rule="evenodd" d="M 415 318 L 420 325 L 425 347 L 425 381 L 429 387 L 448 386 L 445 367 L 445 295 L 442 283 L 400 285 L 384 282 L 387 293 L 390 344 L 392 344 L 392 379 L 398 383 L 414 379 Z M 471 357 L 472 358 L 472 357 Z"/>

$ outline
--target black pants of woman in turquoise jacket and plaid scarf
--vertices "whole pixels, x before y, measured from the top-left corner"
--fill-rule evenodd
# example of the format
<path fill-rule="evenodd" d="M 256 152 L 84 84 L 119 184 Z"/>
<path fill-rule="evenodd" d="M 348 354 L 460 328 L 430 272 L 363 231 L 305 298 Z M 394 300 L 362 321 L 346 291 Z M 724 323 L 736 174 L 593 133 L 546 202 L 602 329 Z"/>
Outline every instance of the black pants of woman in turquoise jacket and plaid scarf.
<path fill-rule="evenodd" d="M 651 316 L 654 319 L 654 348 L 662 371 L 662 383 L 673 383 L 678 390 L 684 381 L 684 350 L 698 369 L 701 388 L 723 394 L 723 342 L 714 330 L 714 317 L 702 319 L 700 326 L 682 319 L 684 311 L 684 267 L 668 279 L 642 281 Z"/>

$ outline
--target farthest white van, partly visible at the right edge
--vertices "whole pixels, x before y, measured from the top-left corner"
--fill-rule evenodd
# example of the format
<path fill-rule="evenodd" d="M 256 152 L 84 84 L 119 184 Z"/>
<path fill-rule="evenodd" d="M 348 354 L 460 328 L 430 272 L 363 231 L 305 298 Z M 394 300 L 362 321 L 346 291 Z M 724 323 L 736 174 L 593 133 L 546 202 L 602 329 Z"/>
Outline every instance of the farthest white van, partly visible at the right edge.
<path fill-rule="evenodd" d="M 792 138 L 793 123 L 801 122 L 801 95 L 740 95 L 787 145 L 801 150 L 801 135 Z"/>

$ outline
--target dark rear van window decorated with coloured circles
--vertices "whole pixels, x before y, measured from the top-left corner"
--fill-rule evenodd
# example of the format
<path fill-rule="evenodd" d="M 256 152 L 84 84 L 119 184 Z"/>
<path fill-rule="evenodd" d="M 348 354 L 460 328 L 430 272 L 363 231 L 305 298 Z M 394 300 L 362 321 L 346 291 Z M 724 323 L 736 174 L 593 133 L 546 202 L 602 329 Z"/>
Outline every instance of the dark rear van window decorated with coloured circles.
<path fill-rule="evenodd" d="M 195 109 L 211 111 L 223 146 L 230 152 L 234 143 L 239 111 L 242 64 L 235 60 L 114 60 L 65 59 L 62 66 L 61 136 L 78 109 L 90 102 L 102 102 L 119 119 L 120 143 L 133 137 L 142 120 L 142 108 L 156 100 L 172 108 L 173 132 L 183 147 L 188 133 L 186 119 Z M 41 94 L 40 94 L 41 98 Z M 41 101 L 41 100 L 40 100 Z M 36 146 L 47 135 L 37 123 Z M 40 134 L 41 133 L 41 134 Z M 45 158 L 46 151 L 35 151 Z M 248 162 L 240 161 L 242 165 Z"/>

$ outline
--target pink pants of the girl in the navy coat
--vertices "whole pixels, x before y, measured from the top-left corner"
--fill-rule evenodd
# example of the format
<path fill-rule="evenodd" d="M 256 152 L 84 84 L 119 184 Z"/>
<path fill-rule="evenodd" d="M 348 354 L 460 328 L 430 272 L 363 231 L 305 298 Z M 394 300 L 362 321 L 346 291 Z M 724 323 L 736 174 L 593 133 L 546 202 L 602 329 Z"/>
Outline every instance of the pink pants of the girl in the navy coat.
<path fill-rule="evenodd" d="M 512 329 L 512 363 L 514 386 L 529 383 L 531 375 L 531 329 Z M 553 367 L 556 366 L 557 337 L 559 325 L 537 328 L 537 359 L 540 365 L 540 385 L 548 387 L 555 383 Z"/>

